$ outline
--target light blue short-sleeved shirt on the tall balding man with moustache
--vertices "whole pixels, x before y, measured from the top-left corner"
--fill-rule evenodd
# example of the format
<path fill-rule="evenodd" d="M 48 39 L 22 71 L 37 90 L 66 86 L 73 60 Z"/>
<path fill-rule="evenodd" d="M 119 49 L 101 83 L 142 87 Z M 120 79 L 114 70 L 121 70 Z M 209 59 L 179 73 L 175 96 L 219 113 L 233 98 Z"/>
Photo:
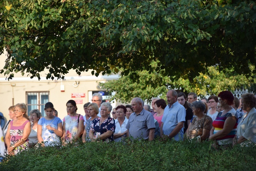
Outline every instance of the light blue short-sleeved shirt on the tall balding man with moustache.
<path fill-rule="evenodd" d="M 178 101 L 171 106 L 168 104 L 163 112 L 163 134 L 169 135 L 180 122 L 185 122 L 186 109 Z M 173 138 L 176 141 L 183 140 L 183 128 Z"/>

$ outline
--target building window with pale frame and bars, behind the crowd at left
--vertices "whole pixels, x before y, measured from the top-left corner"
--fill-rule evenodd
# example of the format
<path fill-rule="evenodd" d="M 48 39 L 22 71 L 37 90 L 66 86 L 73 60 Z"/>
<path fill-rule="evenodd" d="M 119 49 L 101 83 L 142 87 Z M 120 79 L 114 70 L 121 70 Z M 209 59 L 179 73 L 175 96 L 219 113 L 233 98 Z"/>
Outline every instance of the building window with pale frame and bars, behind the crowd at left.
<path fill-rule="evenodd" d="M 28 115 L 33 109 L 38 109 L 45 116 L 44 105 L 49 101 L 49 91 L 26 92 Z"/>

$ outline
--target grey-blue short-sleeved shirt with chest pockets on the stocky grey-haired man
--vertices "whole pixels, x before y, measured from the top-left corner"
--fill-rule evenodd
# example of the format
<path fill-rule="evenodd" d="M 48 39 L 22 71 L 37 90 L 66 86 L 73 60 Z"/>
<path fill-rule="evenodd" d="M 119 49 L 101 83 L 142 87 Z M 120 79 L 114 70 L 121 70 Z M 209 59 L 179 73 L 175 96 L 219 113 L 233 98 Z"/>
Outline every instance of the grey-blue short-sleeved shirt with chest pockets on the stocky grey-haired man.
<path fill-rule="evenodd" d="M 151 128 L 156 128 L 155 120 L 151 112 L 142 109 L 142 111 L 136 115 L 132 113 L 129 117 L 126 129 L 129 129 L 130 137 L 134 139 L 148 139 Z"/>

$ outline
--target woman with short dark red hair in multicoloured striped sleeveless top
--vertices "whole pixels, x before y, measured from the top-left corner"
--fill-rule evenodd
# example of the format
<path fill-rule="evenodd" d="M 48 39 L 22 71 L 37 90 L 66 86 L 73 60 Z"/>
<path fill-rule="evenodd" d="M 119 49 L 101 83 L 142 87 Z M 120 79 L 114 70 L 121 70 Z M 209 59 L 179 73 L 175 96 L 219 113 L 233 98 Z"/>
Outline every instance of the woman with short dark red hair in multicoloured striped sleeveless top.
<path fill-rule="evenodd" d="M 216 140 L 219 147 L 226 148 L 232 146 L 237 131 L 237 112 L 231 106 L 234 96 L 230 91 L 222 91 L 218 97 L 223 111 L 213 121 L 209 139 Z"/>

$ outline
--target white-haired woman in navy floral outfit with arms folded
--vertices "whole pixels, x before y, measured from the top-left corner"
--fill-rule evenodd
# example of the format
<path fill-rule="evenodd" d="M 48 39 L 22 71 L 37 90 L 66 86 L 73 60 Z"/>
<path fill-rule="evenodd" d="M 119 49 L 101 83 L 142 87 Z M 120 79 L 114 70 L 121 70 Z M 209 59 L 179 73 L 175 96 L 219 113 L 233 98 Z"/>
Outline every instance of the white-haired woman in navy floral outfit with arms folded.
<path fill-rule="evenodd" d="M 101 104 L 101 117 L 93 120 L 89 131 L 89 138 L 91 141 L 114 141 L 116 126 L 115 120 L 109 117 L 111 110 L 112 106 L 109 102 L 104 102 Z"/>

